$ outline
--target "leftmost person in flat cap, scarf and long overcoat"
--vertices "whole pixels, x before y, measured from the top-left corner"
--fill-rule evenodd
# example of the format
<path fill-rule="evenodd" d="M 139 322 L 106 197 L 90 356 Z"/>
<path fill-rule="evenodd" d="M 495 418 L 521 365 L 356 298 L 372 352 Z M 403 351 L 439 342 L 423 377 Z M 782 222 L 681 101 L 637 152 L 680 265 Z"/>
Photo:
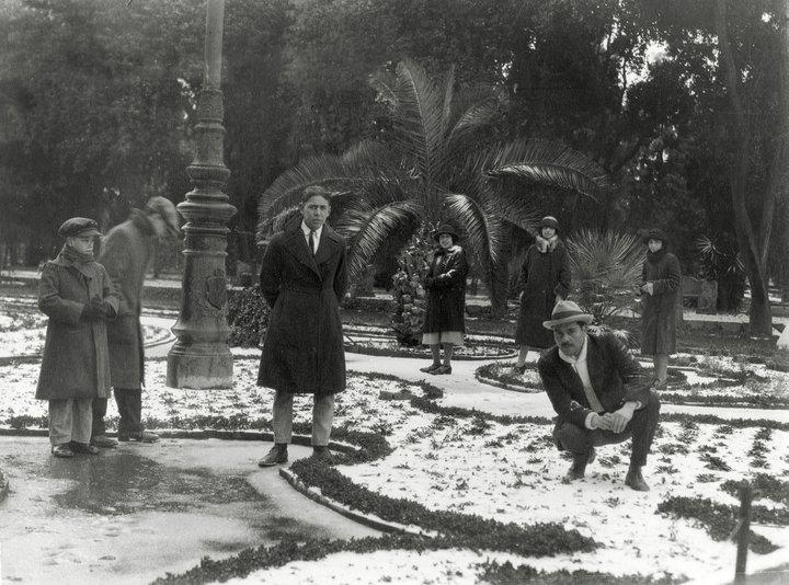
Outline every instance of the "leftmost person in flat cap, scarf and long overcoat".
<path fill-rule="evenodd" d="M 104 266 L 93 261 L 92 219 L 73 217 L 58 233 L 66 244 L 42 269 L 38 308 L 49 317 L 36 398 L 49 401 L 49 443 L 55 457 L 96 455 L 90 445 L 91 402 L 110 393 L 104 320 L 119 299 Z"/>

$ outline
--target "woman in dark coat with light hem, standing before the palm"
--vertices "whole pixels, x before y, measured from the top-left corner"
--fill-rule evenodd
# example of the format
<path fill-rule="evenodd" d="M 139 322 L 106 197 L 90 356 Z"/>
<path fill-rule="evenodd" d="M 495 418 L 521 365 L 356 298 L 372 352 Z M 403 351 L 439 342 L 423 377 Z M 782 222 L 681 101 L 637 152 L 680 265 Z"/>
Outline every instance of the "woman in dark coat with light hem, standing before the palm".
<path fill-rule="evenodd" d="M 458 234 L 451 226 L 439 226 L 434 237 L 438 248 L 425 278 L 427 307 L 422 328 L 422 343 L 430 346 L 433 364 L 420 370 L 442 375 L 451 374 L 453 351 L 456 345 L 462 347 L 464 344 L 468 263 L 462 248 L 457 245 Z"/>

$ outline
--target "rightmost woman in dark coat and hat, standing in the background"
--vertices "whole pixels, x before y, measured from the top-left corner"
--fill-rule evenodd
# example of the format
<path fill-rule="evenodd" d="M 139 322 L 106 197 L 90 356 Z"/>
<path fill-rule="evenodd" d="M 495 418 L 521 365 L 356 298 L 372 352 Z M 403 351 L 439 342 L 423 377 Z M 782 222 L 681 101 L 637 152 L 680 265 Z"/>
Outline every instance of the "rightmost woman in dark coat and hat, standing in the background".
<path fill-rule="evenodd" d="M 641 291 L 641 353 L 653 356 L 655 388 L 665 388 L 668 355 L 676 352 L 676 303 L 682 286 L 677 257 L 666 250 L 666 237 L 659 229 L 644 237 L 649 246 L 643 264 Z"/>

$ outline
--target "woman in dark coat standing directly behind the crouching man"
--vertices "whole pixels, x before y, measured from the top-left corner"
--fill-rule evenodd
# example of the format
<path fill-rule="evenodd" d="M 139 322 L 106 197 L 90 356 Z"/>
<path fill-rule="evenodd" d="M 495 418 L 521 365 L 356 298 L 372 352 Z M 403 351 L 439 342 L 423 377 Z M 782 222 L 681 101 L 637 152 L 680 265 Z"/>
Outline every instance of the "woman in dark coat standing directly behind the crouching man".
<path fill-rule="evenodd" d="M 515 330 L 519 351 L 514 368 L 519 374 L 526 369 L 529 349 L 539 352 L 553 346 L 553 334 L 542 322 L 550 320 L 553 306 L 570 294 L 570 260 L 558 231 L 557 219 L 544 217 L 537 241 L 526 251 L 521 266 L 518 288 L 523 292 Z"/>

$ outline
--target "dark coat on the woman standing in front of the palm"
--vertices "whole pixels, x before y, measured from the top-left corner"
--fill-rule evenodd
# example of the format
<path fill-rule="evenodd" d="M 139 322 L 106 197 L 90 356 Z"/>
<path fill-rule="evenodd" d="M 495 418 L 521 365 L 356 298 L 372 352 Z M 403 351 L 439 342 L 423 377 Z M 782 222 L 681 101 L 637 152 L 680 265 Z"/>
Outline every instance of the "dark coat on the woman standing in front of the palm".
<path fill-rule="evenodd" d="M 466 276 L 468 262 L 459 245 L 439 249 L 425 278 L 427 303 L 423 333 L 466 331 Z"/>

